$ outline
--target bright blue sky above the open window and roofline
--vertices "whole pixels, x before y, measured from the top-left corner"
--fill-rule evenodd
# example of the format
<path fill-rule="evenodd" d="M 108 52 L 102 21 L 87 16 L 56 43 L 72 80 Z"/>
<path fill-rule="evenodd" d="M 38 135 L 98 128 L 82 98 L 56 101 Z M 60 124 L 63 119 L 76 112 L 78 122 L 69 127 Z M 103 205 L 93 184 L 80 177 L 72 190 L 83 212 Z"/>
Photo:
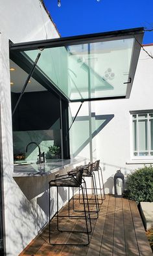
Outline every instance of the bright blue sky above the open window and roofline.
<path fill-rule="evenodd" d="M 153 0 L 44 0 L 61 36 L 145 27 L 153 29 Z M 143 44 L 153 43 L 153 31 Z"/>

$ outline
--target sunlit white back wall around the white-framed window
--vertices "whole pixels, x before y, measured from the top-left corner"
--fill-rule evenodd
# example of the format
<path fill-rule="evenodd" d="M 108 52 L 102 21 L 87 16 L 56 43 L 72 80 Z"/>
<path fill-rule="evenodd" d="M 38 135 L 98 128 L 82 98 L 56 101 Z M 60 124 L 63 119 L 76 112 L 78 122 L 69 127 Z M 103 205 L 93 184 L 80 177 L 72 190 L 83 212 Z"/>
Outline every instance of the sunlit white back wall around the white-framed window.
<path fill-rule="evenodd" d="M 145 46 L 145 49 L 153 54 L 153 46 Z M 95 111 L 95 115 L 114 115 L 113 119 L 92 140 L 93 161 L 100 159 L 106 193 L 113 193 L 113 175 L 118 169 L 121 168 L 123 174 L 126 174 L 145 164 L 145 161 L 143 161 L 143 164 L 135 164 L 138 161 L 132 160 L 130 111 L 153 109 L 152 70 L 153 60 L 148 57 L 145 51 L 141 50 L 130 98 L 125 100 L 101 100 L 91 103 L 91 109 Z M 70 104 L 73 117 L 77 113 L 78 106 L 79 104 Z M 78 113 L 79 115 L 88 115 L 87 103 L 82 107 L 80 113 Z M 84 130 L 84 126 L 81 129 L 82 133 L 86 134 L 87 131 Z M 77 143 L 75 127 L 71 128 L 70 138 L 72 143 Z M 71 147 L 72 152 L 73 147 Z M 78 155 L 89 159 L 89 144 Z M 128 164 L 126 164 L 127 162 Z M 153 163 L 153 159 L 150 162 Z"/>

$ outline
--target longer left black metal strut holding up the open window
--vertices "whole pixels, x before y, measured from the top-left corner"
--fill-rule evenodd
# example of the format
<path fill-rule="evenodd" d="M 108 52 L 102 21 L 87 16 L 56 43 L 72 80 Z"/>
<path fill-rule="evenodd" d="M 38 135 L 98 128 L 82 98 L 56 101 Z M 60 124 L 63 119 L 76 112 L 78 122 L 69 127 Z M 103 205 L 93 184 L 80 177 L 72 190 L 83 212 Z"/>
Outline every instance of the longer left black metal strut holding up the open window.
<path fill-rule="evenodd" d="M 13 117 L 14 113 L 16 112 L 16 109 L 17 109 L 17 107 L 19 105 L 19 102 L 20 102 L 22 96 L 23 96 L 23 93 L 25 92 L 25 89 L 27 87 L 29 79 L 30 79 L 30 77 L 32 76 L 32 74 L 34 72 L 34 68 L 36 67 L 36 64 L 38 63 L 38 60 L 40 59 L 41 51 L 43 51 L 43 49 L 41 49 L 40 52 L 38 53 L 38 55 L 37 55 L 37 57 L 36 57 L 36 59 L 34 61 L 34 64 L 33 64 L 32 68 L 30 70 L 30 73 L 29 73 L 29 75 L 28 75 L 28 77 L 27 77 L 27 79 L 25 81 L 25 84 L 23 85 L 23 89 L 21 91 L 21 94 L 19 95 L 18 102 L 16 102 L 16 106 L 14 107 L 14 110 L 12 111 L 12 117 Z"/>

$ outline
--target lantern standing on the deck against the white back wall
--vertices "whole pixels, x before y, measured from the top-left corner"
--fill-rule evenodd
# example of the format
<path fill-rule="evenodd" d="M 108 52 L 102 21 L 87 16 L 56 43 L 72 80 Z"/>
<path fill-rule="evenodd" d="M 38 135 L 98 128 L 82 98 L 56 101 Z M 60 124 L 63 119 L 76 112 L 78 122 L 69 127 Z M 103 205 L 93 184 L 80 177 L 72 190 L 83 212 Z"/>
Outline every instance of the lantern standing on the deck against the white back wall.
<path fill-rule="evenodd" d="M 123 197 L 124 175 L 121 170 L 115 173 L 113 182 L 115 197 Z"/>

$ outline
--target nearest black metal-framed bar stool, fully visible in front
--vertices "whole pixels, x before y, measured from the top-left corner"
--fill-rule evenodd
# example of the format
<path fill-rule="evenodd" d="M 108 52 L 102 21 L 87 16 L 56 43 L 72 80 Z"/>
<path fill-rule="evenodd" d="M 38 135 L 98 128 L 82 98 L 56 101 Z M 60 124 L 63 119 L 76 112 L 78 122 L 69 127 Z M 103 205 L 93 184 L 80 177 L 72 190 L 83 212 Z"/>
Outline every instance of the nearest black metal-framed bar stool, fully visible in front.
<path fill-rule="evenodd" d="M 66 245 L 72 245 L 72 246 L 86 246 L 89 244 L 89 232 L 91 232 L 91 230 L 89 231 L 88 229 L 88 219 L 90 222 L 90 228 L 91 228 L 91 219 L 90 219 L 90 214 L 89 214 L 89 205 L 88 205 L 88 211 L 86 210 L 86 204 L 85 204 L 85 199 L 84 199 L 84 191 L 83 191 L 83 187 L 82 187 L 82 173 L 83 173 L 83 168 L 82 167 L 78 167 L 77 168 L 77 173 L 74 176 L 69 177 L 69 175 L 62 175 L 58 178 L 56 178 L 55 180 L 51 180 L 49 182 L 49 243 L 52 245 L 62 245 L 61 243 L 52 243 L 51 242 L 51 202 L 50 202 L 50 198 L 51 198 L 51 187 L 56 187 L 56 195 L 57 195 L 57 212 L 56 212 L 56 220 L 57 220 L 57 229 L 58 231 L 62 231 L 62 232 L 70 232 L 70 233 L 86 233 L 87 236 L 87 242 L 82 242 L 80 244 L 77 243 L 71 243 L 71 244 L 66 244 Z M 85 220 L 85 226 L 86 226 L 86 230 L 85 231 L 71 231 L 71 230 L 61 230 L 59 229 L 59 217 L 70 217 L 68 216 L 59 216 L 59 210 L 58 210 L 58 188 L 59 187 L 67 187 L 67 188 L 80 188 L 82 190 L 82 199 L 83 199 L 83 203 L 84 203 L 84 220 Z M 86 200 L 88 202 L 88 195 L 86 192 Z M 77 216 L 78 217 L 78 216 Z"/>

